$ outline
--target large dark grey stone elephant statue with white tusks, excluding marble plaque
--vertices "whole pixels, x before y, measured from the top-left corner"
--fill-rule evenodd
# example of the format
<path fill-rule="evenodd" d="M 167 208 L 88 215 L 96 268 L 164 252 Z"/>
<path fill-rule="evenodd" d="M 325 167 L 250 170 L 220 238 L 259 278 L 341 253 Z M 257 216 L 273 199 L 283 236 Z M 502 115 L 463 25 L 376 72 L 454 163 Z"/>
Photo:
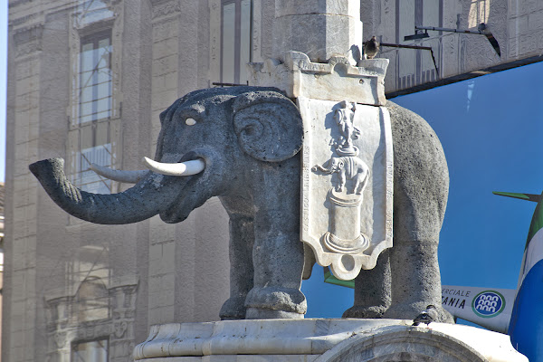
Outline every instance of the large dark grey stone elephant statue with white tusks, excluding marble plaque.
<path fill-rule="evenodd" d="M 364 271 L 375 281 L 357 281 L 356 305 L 348 313 L 378 310 L 373 317 L 408 319 L 427 304 L 441 305 L 437 243 L 448 175 L 443 150 L 424 120 L 397 106 L 391 110 L 395 160 L 401 163 L 395 167 L 395 246 L 380 258 L 378 269 Z M 64 175 L 61 158 L 30 169 L 62 209 L 97 224 L 136 223 L 156 214 L 178 223 L 219 196 L 230 216 L 233 265 L 221 318 L 303 318 L 303 129 L 294 103 L 273 88 L 196 90 L 162 112 L 160 122 L 156 161 L 148 160 L 151 171 L 122 193 L 81 191 Z M 386 285 L 378 289 L 378 283 Z M 368 298 L 367 288 L 380 294 Z"/>

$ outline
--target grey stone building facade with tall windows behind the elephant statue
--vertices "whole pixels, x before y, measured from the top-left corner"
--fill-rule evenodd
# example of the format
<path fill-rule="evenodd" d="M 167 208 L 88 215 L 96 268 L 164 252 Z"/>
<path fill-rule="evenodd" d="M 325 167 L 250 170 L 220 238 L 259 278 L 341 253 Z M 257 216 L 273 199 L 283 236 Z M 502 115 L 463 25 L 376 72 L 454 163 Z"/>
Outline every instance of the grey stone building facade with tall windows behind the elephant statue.
<path fill-rule="evenodd" d="M 428 50 L 383 48 L 393 93 L 538 60 L 539 3 L 364 0 L 360 17 L 364 39 L 433 49 L 435 63 Z M 141 168 L 140 158 L 154 155 L 162 110 L 191 90 L 243 84 L 245 64 L 271 56 L 275 12 L 274 0 L 9 2 L 5 361 L 129 361 L 150 325 L 218 319 L 230 266 L 228 218 L 216 198 L 181 224 L 90 224 L 54 205 L 28 165 L 63 157 L 83 190 L 128 188 L 90 163 Z M 501 57 L 479 35 L 404 41 L 415 24 L 480 23 Z"/>

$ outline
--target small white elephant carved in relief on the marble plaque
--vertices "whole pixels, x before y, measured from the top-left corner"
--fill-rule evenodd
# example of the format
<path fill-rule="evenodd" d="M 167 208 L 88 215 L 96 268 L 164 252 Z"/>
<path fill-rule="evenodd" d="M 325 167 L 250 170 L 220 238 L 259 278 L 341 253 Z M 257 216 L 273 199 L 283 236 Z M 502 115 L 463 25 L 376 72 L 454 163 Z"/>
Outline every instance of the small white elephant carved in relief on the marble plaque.
<path fill-rule="evenodd" d="M 352 190 L 348 190 L 348 192 L 352 191 L 353 194 L 357 195 L 362 194 L 367 183 L 367 177 L 369 177 L 369 167 L 367 167 L 364 161 L 353 156 L 331 157 L 327 165 L 325 167 L 317 165 L 312 167 L 312 170 L 319 170 L 326 174 L 338 173 L 339 182 L 336 186 L 337 192 L 342 192 L 347 180 L 352 180 Z"/>

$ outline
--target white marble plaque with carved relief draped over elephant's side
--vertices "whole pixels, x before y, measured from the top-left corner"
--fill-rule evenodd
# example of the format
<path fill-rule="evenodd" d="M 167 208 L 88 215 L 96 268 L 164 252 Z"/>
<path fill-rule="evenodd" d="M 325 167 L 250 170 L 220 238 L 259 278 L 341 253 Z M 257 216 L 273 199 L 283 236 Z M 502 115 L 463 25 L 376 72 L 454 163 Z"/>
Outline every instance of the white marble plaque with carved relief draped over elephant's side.
<path fill-rule="evenodd" d="M 301 241 L 342 280 L 392 247 L 393 153 L 385 107 L 298 98 Z"/>

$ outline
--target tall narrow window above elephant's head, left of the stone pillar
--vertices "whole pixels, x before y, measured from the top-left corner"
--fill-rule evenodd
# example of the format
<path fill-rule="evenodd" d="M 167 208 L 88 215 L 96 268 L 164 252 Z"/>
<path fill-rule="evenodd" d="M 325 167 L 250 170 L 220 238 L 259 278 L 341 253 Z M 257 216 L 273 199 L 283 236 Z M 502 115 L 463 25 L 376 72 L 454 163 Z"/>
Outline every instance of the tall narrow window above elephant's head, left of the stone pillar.
<path fill-rule="evenodd" d="M 223 0 L 221 18 L 221 81 L 245 84 L 245 65 L 252 62 L 252 0 Z"/>

